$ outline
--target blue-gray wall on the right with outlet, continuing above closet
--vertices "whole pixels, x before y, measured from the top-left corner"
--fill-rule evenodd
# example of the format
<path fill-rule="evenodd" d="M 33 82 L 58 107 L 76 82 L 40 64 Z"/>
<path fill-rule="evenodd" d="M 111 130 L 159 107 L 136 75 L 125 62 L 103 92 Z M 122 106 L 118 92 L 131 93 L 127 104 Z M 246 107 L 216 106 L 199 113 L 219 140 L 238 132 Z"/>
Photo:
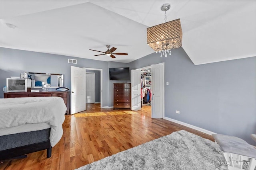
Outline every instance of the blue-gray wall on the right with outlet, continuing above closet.
<path fill-rule="evenodd" d="M 250 144 L 256 134 L 256 57 L 194 65 L 186 52 L 173 49 L 129 63 L 130 68 L 165 63 L 165 116 Z M 180 114 L 176 113 L 180 111 Z"/>

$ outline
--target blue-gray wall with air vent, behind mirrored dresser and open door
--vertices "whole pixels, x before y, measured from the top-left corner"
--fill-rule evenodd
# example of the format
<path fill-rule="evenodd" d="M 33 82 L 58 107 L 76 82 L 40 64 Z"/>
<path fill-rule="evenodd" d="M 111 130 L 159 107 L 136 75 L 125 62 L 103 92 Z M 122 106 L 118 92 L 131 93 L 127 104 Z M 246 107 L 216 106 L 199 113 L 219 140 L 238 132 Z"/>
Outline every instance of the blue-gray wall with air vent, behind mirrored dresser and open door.
<path fill-rule="evenodd" d="M 68 59 L 77 59 L 78 64 L 69 64 Z M 19 76 L 22 72 L 46 72 L 64 74 L 64 86 L 70 88 L 70 66 L 101 68 L 103 70 L 102 106 L 109 105 L 108 62 L 68 57 L 47 53 L 37 53 L 17 49 L 0 48 L 0 87 L 6 86 L 6 78 Z M 0 98 L 4 98 L 1 90 Z"/>

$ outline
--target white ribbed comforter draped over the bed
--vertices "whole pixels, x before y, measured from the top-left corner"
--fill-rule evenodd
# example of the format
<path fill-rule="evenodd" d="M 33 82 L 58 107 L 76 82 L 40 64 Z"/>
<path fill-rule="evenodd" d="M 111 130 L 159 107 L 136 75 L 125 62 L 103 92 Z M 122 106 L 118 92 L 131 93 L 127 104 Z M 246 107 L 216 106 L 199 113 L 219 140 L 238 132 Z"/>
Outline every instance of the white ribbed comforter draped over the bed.
<path fill-rule="evenodd" d="M 45 122 L 51 125 L 50 143 L 54 147 L 63 135 L 62 123 L 66 109 L 60 97 L 0 99 L 0 131 L 4 128 Z"/>

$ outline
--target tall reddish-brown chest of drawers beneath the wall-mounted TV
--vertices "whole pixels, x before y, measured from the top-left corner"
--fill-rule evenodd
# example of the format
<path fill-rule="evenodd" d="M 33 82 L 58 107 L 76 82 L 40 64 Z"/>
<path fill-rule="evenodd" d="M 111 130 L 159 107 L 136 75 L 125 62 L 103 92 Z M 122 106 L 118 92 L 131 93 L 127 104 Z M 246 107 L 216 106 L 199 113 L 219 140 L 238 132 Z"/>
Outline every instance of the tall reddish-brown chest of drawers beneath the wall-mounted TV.
<path fill-rule="evenodd" d="M 131 108 L 131 84 L 114 83 L 114 106 L 117 108 Z"/>

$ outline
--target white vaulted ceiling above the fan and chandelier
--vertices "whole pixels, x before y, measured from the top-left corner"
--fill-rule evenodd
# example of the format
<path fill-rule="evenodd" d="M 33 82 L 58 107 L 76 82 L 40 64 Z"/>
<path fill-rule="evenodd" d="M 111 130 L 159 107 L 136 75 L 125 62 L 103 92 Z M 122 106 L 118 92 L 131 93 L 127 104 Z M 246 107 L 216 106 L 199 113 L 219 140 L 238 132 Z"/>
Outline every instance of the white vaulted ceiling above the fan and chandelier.
<path fill-rule="evenodd" d="M 256 56 L 255 0 L 0 0 L 0 47 L 129 63 L 154 53 L 146 28 L 164 22 L 164 3 L 194 64 Z M 89 50 L 107 44 L 128 55 Z"/>

